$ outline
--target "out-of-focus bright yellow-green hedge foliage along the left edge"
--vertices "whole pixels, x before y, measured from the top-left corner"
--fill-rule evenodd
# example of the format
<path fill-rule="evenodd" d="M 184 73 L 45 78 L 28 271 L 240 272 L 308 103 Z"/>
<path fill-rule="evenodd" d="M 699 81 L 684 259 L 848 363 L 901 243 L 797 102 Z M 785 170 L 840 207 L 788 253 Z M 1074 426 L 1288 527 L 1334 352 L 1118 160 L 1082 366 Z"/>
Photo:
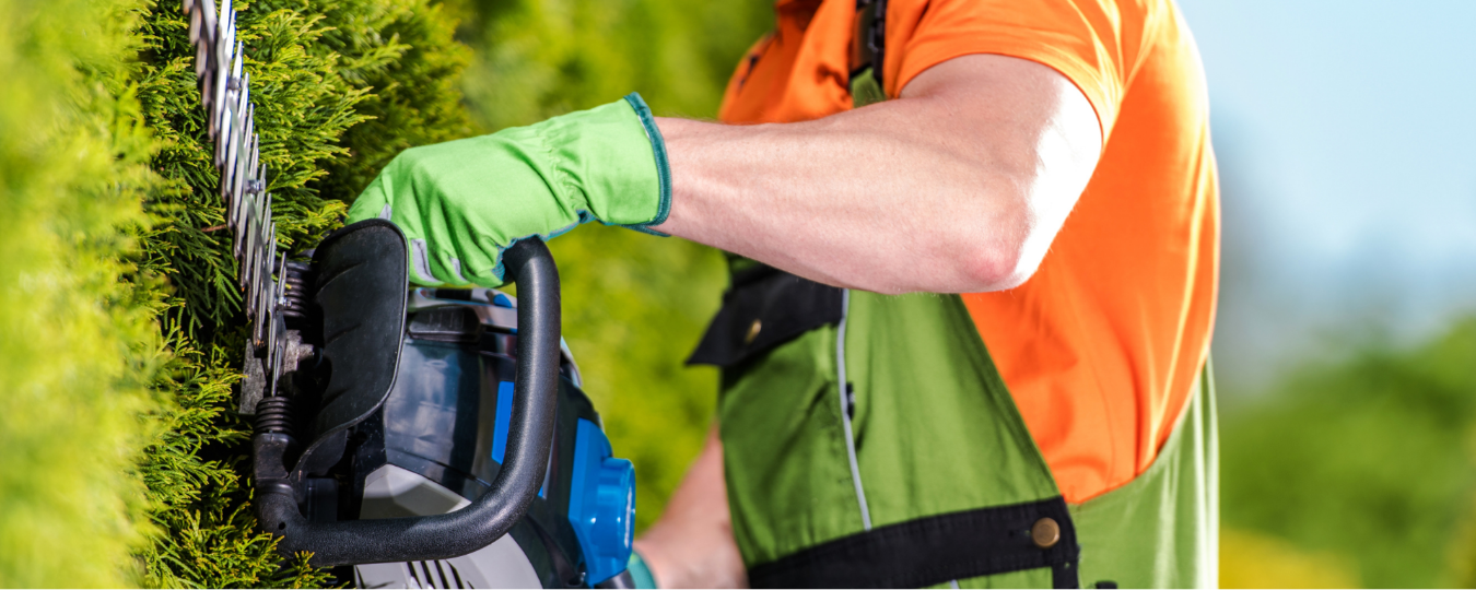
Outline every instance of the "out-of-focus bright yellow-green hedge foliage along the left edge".
<path fill-rule="evenodd" d="M 125 1 L 0 0 L 0 586 L 124 586 L 158 412 Z M 124 279 L 134 279 L 127 282 Z"/>

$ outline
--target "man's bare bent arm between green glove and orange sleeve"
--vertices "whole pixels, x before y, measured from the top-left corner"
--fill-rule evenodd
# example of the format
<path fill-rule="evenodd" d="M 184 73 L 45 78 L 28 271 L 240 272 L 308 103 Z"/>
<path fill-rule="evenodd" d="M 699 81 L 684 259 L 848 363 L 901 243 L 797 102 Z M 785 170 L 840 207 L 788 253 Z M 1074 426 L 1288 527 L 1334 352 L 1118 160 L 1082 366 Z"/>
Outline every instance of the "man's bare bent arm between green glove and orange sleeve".
<path fill-rule="evenodd" d="M 657 124 L 673 187 L 657 230 L 883 294 L 1023 283 L 1103 146 L 1064 75 L 996 55 L 951 59 L 897 100 L 816 121 Z"/>

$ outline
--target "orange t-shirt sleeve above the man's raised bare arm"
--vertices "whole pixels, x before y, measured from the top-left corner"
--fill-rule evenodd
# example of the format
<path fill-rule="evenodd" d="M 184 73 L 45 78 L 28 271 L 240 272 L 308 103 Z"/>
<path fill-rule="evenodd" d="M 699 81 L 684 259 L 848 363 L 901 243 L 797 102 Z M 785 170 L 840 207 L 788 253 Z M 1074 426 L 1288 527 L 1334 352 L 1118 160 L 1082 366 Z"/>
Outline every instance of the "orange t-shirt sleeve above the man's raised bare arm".
<path fill-rule="evenodd" d="M 1111 131 L 1141 44 L 1142 16 L 1111 0 L 892 0 L 887 94 L 945 60 L 995 53 L 1066 75 Z"/>

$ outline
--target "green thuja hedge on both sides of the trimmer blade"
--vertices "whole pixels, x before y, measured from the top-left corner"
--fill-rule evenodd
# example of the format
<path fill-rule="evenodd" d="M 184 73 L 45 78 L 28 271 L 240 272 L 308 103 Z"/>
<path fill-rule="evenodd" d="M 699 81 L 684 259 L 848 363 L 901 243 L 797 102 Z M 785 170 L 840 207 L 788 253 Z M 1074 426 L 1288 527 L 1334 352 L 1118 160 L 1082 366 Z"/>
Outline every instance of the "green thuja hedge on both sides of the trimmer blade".
<path fill-rule="evenodd" d="M 428 0 L 238 3 L 283 249 L 469 133 Z M 244 326 L 174 1 L 0 0 L 0 584 L 320 586 L 254 531 Z"/>

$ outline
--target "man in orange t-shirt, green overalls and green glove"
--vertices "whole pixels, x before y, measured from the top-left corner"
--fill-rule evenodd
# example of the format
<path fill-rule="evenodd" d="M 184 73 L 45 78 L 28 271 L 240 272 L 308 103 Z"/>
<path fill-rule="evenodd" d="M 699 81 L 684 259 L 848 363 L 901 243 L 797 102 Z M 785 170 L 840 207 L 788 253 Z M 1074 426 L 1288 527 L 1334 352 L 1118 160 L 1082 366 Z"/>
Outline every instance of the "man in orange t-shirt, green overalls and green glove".
<path fill-rule="evenodd" d="M 723 124 L 632 94 L 418 148 L 350 217 L 428 285 L 590 220 L 735 254 L 692 358 L 716 434 L 638 543 L 663 586 L 1215 584 L 1218 193 L 1172 1 L 776 12 Z"/>

